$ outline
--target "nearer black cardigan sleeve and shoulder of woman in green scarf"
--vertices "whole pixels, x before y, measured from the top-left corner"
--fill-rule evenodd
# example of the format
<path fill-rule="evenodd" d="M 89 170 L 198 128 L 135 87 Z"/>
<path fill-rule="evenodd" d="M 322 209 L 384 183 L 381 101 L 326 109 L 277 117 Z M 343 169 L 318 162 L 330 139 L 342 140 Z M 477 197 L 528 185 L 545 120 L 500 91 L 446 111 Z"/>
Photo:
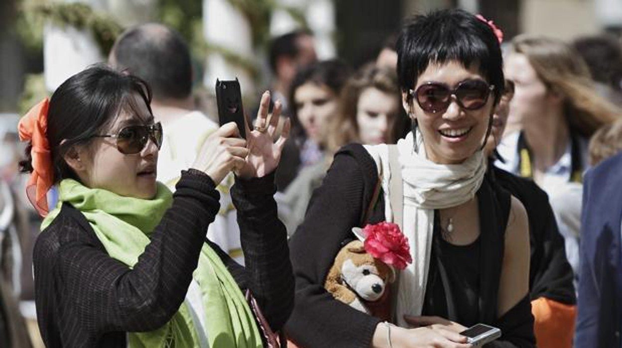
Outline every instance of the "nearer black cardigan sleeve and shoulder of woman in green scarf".
<path fill-rule="evenodd" d="M 85 330 L 95 336 L 152 331 L 177 312 L 220 204 L 213 181 L 198 171 L 182 172 L 173 197 L 133 268 L 109 256 L 94 236 L 85 242 L 85 231 L 92 229 L 72 207 L 73 215 L 62 211 L 50 225 L 58 229 L 55 238 L 42 233 L 34 273 L 47 346 L 95 344 L 85 342 Z M 60 337 L 52 327 L 60 328 Z"/>

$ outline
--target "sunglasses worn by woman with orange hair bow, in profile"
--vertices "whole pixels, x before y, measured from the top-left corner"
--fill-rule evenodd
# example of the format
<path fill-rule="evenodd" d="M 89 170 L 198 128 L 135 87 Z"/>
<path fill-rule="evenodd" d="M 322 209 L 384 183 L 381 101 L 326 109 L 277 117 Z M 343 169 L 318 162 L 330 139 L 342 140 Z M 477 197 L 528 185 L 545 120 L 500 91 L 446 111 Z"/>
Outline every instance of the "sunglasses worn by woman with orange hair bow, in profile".
<path fill-rule="evenodd" d="M 147 146 L 149 139 L 160 149 L 162 146 L 162 124 L 126 126 L 117 134 L 97 134 L 97 138 L 116 138 L 116 146 L 120 153 L 137 154 Z"/>

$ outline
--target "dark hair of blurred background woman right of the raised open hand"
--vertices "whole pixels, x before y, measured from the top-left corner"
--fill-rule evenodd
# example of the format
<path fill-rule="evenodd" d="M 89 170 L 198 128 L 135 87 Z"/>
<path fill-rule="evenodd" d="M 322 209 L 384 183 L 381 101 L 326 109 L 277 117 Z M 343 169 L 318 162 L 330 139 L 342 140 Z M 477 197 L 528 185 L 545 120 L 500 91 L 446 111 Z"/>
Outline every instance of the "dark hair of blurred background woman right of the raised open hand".
<path fill-rule="evenodd" d="M 294 100 L 296 90 L 305 83 L 312 82 L 318 86 L 328 87 L 338 97 L 350 75 L 352 75 L 350 65 L 340 59 L 322 60 L 302 67 L 296 72 L 292 86 L 289 88 L 289 109 L 292 115 L 290 120 L 292 135 L 295 138 L 304 137 L 304 129 L 298 120 L 298 109 Z"/>

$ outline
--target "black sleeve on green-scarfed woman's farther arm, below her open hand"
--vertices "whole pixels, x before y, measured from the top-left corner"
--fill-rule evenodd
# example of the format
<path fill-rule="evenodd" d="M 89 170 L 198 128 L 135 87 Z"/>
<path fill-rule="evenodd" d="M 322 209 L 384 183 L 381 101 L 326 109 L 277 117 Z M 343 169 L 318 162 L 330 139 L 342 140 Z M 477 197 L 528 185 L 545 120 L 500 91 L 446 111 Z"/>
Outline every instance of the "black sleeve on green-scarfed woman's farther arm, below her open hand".
<path fill-rule="evenodd" d="M 275 192 L 274 172 L 249 180 L 236 177 L 231 188 L 249 288 L 271 329 L 279 331 L 294 306 L 294 275 Z"/>

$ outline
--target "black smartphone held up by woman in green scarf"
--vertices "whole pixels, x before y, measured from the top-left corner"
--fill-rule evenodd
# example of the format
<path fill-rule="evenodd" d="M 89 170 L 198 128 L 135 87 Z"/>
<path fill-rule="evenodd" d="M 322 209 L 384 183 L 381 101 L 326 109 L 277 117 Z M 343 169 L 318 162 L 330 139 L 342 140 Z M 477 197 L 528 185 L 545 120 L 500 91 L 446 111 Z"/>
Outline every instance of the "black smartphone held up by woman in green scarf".
<path fill-rule="evenodd" d="M 235 80 L 221 81 L 216 79 L 216 103 L 218 104 L 218 121 L 220 125 L 235 122 L 238 125 L 239 135 L 246 139 L 242 93 L 237 77 Z"/>

